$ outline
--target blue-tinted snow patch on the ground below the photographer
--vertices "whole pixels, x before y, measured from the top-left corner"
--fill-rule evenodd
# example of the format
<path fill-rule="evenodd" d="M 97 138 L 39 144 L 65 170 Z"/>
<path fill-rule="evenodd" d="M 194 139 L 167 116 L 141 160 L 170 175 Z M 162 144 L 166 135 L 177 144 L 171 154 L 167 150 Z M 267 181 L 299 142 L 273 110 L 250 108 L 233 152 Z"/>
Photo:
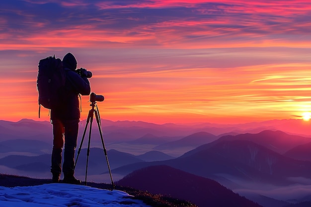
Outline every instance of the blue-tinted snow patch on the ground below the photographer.
<path fill-rule="evenodd" d="M 0 186 L 0 207 L 150 207 L 118 190 L 64 183 L 6 188 Z"/>

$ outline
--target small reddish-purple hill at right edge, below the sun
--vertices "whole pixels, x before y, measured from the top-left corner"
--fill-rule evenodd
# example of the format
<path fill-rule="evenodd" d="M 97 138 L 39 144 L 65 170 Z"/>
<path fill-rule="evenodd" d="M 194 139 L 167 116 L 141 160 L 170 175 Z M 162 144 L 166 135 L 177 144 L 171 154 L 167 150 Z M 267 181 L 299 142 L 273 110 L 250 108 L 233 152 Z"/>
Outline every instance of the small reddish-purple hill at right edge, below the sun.
<path fill-rule="evenodd" d="M 284 155 L 293 159 L 311 161 L 311 142 L 298 145 L 285 152 Z"/>

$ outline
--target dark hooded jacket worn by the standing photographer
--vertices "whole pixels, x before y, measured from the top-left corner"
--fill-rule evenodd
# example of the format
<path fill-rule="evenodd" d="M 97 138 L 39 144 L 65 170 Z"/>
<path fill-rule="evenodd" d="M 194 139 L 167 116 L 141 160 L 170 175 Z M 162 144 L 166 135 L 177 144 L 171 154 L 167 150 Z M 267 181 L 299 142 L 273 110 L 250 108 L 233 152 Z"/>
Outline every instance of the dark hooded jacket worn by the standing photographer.
<path fill-rule="evenodd" d="M 51 110 L 51 120 L 75 120 L 80 118 L 78 94 L 89 95 L 90 84 L 86 77 L 81 77 L 75 69 L 77 60 L 68 53 L 63 58 L 63 66 L 66 71 L 66 82 L 62 91 L 62 103 Z"/>

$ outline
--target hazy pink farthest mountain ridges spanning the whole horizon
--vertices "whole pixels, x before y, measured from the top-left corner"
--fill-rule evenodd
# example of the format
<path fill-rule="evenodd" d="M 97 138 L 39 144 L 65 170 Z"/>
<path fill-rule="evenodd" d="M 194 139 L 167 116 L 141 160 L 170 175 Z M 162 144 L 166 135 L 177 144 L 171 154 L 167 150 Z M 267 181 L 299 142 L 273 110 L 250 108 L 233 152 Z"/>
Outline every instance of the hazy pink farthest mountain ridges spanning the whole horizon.
<path fill-rule="evenodd" d="M 80 121 L 79 133 L 82 134 L 85 127 L 85 120 Z M 254 122 L 245 124 L 153 124 L 135 121 L 101 120 L 104 139 L 108 142 L 130 141 L 141 138 L 148 134 L 156 137 L 184 138 L 198 132 L 208 132 L 220 136 L 225 133 L 232 135 L 252 133 L 256 134 L 264 130 L 283 131 L 287 134 L 306 135 L 311 137 L 310 122 L 303 120 L 271 120 L 265 122 Z M 94 137 L 97 138 L 98 130 L 94 124 Z M 27 138 L 36 140 L 50 140 L 52 138 L 52 125 L 47 121 L 34 121 L 22 119 L 18 122 L 0 120 L 1 140 Z"/>

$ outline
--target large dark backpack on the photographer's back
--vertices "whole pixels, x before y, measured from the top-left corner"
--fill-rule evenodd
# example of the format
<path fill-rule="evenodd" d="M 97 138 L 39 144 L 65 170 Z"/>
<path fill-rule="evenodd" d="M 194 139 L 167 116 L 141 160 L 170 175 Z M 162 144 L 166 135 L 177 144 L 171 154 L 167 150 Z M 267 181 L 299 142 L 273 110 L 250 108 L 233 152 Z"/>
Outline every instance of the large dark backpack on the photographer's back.
<path fill-rule="evenodd" d="M 37 77 L 39 118 L 41 105 L 53 109 L 62 104 L 61 93 L 65 80 L 66 73 L 61 59 L 56 59 L 54 55 L 39 61 Z"/>

